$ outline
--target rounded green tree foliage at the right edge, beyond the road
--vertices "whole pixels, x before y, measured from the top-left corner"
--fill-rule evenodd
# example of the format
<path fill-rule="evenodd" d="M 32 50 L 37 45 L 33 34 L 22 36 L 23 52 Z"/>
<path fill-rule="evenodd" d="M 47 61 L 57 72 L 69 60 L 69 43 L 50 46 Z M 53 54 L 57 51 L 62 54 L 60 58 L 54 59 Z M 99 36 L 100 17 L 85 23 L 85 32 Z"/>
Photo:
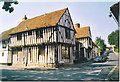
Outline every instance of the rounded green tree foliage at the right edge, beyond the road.
<path fill-rule="evenodd" d="M 116 48 L 119 47 L 119 30 L 113 31 L 108 35 L 108 43 L 110 45 L 115 45 Z"/>

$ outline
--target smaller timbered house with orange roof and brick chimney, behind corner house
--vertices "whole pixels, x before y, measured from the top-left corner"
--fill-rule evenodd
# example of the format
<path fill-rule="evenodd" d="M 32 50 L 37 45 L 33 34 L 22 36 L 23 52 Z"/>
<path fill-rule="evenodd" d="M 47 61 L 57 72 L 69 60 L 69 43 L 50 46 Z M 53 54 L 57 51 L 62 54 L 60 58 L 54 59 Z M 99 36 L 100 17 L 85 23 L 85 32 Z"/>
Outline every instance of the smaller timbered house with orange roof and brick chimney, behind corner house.
<path fill-rule="evenodd" d="M 92 35 L 90 26 L 87 27 L 80 27 L 80 24 L 75 24 L 75 30 L 76 30 L 76 39 L 83 44 L 83 47 L 81 47 L 81 52 L 83 52 L 83 57 L 87 58 L 87 60 L 90 60 L 92 58 Z"/>

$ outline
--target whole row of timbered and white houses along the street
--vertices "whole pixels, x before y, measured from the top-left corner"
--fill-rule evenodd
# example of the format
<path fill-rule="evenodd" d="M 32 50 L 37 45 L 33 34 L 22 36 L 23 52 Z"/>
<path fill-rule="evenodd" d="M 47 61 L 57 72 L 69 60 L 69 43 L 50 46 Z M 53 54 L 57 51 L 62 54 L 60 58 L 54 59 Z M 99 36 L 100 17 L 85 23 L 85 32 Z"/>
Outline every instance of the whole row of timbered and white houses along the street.
<path fill-rule="evenodd" d="M 0 40 L 0 63 L 58 67 L 97 56 L 90 26 L 73 24 L 68 8 L 28 19 L 5 32 Z"/>

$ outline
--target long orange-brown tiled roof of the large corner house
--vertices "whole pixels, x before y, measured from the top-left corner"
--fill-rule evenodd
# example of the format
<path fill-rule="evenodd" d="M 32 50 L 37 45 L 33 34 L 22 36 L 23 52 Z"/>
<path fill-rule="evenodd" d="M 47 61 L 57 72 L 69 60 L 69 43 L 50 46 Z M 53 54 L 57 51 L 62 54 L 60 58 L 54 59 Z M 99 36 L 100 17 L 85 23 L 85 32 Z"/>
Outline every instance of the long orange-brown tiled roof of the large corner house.
<path fill-rule="evenodd" d="M 55 26 L 67 9 L 68 8 L 54 11 L 51 13 L 46 13 L 44 15 L 22 21 L 17 27 L 15 27 L 15 29 L 10 34 L 42 28 L 42 27 Z"/>

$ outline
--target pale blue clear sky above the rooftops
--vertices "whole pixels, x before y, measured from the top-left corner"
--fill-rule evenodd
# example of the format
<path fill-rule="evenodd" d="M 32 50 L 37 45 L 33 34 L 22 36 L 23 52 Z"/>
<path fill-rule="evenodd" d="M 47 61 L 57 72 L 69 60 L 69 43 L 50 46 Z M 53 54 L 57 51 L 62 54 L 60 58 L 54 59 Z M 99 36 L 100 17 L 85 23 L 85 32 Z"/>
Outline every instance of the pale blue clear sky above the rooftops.
<path fill-rule="evenodd" d="M 108 45 L 107 37 L 118 29 L 113 18 L 110 18 L 110 6 L 116 2 L 19 2 L 12 4 L 14 12 L 11 14 L 2 9 L 3 2 L 0 2 L 0 33 L 10 28 L 16 27 L 24 15 L 28 19 L 53 12 L 63 8 L 68 8 L 74 24 L 80 23 L 80 27 L 90 26 L 92 39 L 101 36 Z"/>

